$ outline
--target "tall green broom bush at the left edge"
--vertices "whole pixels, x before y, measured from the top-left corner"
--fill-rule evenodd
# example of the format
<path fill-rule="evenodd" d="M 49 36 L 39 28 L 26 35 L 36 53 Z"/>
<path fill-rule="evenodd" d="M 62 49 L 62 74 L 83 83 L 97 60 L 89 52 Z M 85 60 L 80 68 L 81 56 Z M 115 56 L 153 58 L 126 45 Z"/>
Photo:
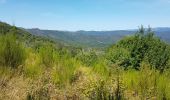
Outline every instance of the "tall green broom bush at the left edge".
<path fill-rule="evenodd" d="M 2 66 L 16 68 L 24 63 L 25 50 L 21 43 L 16 40 L 14 33 L 1 35 L 0 46 L 0 64 Z"/>

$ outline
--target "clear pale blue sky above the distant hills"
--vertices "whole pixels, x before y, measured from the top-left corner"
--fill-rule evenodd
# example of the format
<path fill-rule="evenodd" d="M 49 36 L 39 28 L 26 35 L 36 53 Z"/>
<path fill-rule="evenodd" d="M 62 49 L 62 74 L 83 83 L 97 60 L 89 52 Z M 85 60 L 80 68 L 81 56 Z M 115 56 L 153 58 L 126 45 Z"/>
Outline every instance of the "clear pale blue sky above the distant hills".
<path fill-rule="evenodd" d="M 68 31 L 170 27 L 170 0 L 0 0 L 0 21 Z"/>

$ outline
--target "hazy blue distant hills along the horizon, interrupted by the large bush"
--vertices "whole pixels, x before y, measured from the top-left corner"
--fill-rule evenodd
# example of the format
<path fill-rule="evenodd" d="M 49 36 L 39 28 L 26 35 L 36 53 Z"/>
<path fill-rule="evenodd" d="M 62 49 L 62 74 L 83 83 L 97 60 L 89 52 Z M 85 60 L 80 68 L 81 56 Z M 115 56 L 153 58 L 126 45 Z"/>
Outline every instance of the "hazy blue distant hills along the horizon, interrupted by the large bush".
<path fill-rule="evenodd" d="M 27 29 L 28 32 L 38 35 L 50 37 L 63 43 L 84 47 L 107 47 L 115 43 L 122 37 L 132 35 L 136 30 L 116 30 L 116 31 L 57 31 L 57 30 L 40 30 Z M 170 28 L 154 28 L 153 31 L 161 39 L 170 42 Z"/>

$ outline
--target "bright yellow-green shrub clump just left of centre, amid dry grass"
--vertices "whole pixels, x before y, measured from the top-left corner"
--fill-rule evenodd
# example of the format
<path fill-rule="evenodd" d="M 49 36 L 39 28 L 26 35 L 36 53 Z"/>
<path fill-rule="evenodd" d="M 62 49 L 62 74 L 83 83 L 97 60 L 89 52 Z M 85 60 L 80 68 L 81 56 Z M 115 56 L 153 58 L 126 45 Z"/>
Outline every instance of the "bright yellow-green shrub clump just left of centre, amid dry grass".
<path fill-rule="evenodd" d="M 76 69 L 80 66 L 74 58 L 60 59 L 58 66 L 52 71 L 52 78 L 59 86 L 65 86 L 73 82 Z"/>

